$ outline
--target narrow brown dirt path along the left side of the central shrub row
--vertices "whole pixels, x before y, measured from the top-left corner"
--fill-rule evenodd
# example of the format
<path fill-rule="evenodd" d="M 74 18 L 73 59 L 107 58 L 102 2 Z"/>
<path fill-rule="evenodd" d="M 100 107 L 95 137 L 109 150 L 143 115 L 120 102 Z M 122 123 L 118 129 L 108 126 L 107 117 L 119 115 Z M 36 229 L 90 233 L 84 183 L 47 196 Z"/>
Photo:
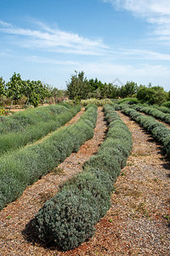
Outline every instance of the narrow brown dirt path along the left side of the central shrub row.
<path fill-rule="evenodd" d="M 77 113 L 76 117 L 71 119 L 68 124 L 77 122 L 83 112 L 84 110 Z M 78 153 L 71 154 L 55 168 L 54 172 L 48 173 L 37 183 L 28 187 L 17 201 L 10 203 L 0 212 L 1 255 L 58 255 L 57 251 L 40 247 L 32 240 L 32 230 L 29 223 L 39 208 L 42 207 L 44 201 L 58 191 L 59 183 L 82 171 L 83 162 L 99 149 L 100 143 L 105 138 L 106 129 L 104 113 L 102 108 L 98 108 L 94 137 L 82 145 Z"/>

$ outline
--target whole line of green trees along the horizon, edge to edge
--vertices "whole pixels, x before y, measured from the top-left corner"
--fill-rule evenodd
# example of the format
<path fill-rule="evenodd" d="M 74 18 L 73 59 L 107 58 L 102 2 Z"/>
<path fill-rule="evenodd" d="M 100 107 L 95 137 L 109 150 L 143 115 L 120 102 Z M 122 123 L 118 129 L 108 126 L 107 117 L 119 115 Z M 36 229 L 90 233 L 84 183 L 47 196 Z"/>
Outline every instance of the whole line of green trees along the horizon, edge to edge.
<path fill-rule="evenodd" d="M 87 79 L 85 73 L 75 71 L 71 75 L 71 79 L 66 82 L 67 90 L 58 90 L 48 84 L 42 84 L 40 80 L 22 80 L 20 73 L 14 73 L 5 83 L 3 77 L 0 77 L 0 104 L 3 97 L 7 97 L 11 102 L 18 103 L 21 97 L 25 97 L 25 105 L 33 105 L 43 103 L 45 99 L 53 97 L 54 103 L 59 102 L 59 97 L 68 96 L 69 99 L 78 103 L 82 99 L 117 99 L 126 97 L 137 97 L 141 102 L 149 102 L 150 104 L 161 104 L 170 101 L 170 91 L 166 92 L 161 86 L 145 86 L 137 85 L 133 81 L 127 82 L 122 86 L 116 84 L 102 83 L 100 80 Z M 10 108 L 11 108 L 10 107 Z"/>

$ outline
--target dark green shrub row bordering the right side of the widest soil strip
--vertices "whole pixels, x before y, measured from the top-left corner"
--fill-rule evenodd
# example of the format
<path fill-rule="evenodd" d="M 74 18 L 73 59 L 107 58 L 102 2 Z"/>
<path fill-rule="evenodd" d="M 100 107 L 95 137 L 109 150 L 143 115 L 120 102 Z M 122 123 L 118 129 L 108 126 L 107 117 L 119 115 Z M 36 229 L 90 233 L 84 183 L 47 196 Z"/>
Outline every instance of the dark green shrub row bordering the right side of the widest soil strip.
<path fill-rule="evenodd" d="M 150 116 L 144 116 L 132 108 L 123 108 L 122 113 L 137 121 L 146 131 L 150 131 L 152 136 L 163 145 L 167 155 L 170 155 L 170 130 L 165 125 Z"/>

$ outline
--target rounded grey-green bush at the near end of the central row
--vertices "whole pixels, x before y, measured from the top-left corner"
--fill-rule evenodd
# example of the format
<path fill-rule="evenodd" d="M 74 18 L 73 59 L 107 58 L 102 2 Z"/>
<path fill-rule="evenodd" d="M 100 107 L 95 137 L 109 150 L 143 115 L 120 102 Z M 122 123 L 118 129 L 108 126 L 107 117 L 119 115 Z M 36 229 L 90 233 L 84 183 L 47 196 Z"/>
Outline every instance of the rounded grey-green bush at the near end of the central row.
<path fill-rule="evenodd" d="M 37 213 L 38 236 L 62 250 L 71 250 L 94 235 L 95 210 L 88 199 L 74 191 L 62 191 Z"/>

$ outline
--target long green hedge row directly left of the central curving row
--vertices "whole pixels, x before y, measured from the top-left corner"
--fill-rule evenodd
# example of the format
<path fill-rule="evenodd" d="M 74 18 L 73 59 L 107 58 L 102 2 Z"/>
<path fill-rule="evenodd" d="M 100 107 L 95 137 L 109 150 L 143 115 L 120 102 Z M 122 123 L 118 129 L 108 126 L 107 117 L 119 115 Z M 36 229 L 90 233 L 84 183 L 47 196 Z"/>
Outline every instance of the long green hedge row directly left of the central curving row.
<path fill-rule="evenodd" d="M 76 124 L 54 131 L 42 142 L 3 154 L 0 158 L 0 209 L 92 138 L 96 119 L 97 107 L 88 107 Z"/>

